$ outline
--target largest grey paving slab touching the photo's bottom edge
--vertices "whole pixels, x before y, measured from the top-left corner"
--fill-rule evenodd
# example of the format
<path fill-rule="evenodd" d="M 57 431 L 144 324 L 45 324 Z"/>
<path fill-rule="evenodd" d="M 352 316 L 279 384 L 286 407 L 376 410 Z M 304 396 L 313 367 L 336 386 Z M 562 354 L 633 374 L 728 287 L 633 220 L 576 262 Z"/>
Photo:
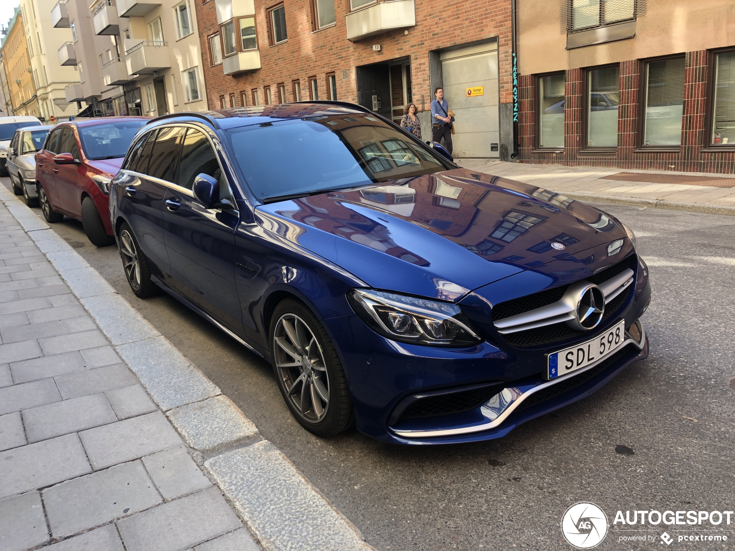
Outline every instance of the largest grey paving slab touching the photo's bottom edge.
<path fill-rule="evenodd" d="M 240 526 L 214 487 L 118 522 L 127 551 L 179 551 Z"/>

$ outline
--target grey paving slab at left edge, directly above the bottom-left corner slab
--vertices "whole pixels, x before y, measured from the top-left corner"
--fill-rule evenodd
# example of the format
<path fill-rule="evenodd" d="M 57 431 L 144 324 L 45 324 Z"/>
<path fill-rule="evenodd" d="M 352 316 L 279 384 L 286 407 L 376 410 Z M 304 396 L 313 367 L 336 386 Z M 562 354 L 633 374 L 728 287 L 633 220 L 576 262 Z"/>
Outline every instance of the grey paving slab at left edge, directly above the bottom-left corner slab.
<path fill-rule="evenodd" d="M 43 488 L 91 472 L 76 434 L 0 452 L 0 497 Z"/>

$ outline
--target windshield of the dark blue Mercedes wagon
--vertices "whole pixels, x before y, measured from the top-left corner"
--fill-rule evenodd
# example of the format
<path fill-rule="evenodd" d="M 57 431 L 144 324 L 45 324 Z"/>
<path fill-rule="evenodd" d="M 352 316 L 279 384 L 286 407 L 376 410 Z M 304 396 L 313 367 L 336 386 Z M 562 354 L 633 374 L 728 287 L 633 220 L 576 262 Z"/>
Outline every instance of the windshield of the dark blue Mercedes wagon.
<path fill-rule="evenodd" d="M 262 202 L 453 168 L 376 117 L 355 113 L 229 129 L 248 187 Z"/>

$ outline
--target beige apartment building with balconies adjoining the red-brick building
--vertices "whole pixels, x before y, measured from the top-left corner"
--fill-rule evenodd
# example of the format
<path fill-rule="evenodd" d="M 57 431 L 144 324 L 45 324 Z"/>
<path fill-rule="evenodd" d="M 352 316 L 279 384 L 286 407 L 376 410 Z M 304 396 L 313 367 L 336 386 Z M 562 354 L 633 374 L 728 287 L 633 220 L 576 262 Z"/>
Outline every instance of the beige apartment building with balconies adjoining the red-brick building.
<path fill-rule="evenodd" d="M 66 99 L 84 101 L 88 116 L 207 110 L 192 1 L 57 4 L 52 24 L 71 29 L 59 62 L 79 70 Z"/>

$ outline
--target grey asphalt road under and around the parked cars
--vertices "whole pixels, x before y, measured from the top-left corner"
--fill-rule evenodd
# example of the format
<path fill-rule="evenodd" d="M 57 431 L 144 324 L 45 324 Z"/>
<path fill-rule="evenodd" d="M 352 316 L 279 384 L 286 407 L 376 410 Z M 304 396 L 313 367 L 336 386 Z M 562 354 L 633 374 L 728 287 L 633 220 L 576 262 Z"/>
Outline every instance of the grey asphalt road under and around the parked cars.
<path fill-rule="evenodd" d="M 7 178 L 2 179 L 9 187 Z M 650 357 L 592 397 L 501 440 L 394 447 L 356 431 L 319 439 L 290 416 L 268 364 L 167 295 L 130 291 L 115 247 L 66 218 L 54 230 L 218 384 L 378 550 L 570 549 L 559 523 L 578 501 L 617 510 L 732 511 L 735 505 L 735 217 L 600 205 L 638 235 L 653 301 Z M 34 209 L 40 215 L 39 209 Z M 733 382 L 735 386 L 735 381 Z M 720 542 L 734 549 L 735 519 Z M 620 532 L 598 549 L 658 548 L 692 526 Z M 628 527 L 628 528 L 639 528 Z M 711 527 L 710 527 L 711 528 Z M 687 532 L 691 534 L 692 532 Z M 620 535 L 650 543 L 619 543 Z M 691 545 L 691 547 L 689 547 Z M 667 546 L 664 546 L 667 547 Z"/>

